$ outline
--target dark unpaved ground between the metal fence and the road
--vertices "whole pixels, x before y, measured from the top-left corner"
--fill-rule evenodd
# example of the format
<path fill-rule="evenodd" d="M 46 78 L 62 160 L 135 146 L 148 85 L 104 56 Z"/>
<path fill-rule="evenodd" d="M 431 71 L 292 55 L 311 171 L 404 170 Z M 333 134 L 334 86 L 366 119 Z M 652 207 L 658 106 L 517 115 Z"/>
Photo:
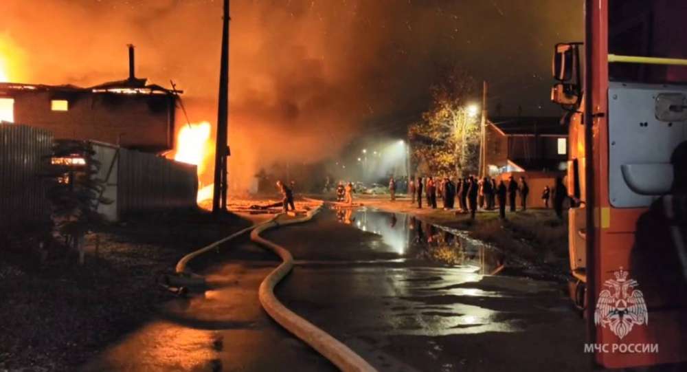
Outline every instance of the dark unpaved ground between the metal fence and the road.
<path fill-rule="evenodd" d="M 173 296 L 155 284 L 158 272 L 248 225 L 204 211 L 148 215 L 89 234 L 82 266 L 74 256 L 38 265 L 21 250 L 3 254 L 0 371 L 74 370 Z"/>

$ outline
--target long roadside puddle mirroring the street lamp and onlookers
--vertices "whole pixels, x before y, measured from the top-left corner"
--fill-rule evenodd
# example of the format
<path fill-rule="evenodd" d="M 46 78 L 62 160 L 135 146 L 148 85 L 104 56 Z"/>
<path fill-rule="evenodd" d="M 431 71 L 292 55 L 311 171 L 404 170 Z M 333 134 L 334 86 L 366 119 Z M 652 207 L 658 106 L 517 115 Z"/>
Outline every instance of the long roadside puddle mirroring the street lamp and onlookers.
<path fill-rule="evenodd" d="M 504 254 L 462 234 L 438 228 L 412 215 L 369 208 L 336 208 L 337 220 L 359 230 L 377 234 L 387 247 L 401 256 L 459 268 L 464 272 L 495 275 L 506 264 Z"/>

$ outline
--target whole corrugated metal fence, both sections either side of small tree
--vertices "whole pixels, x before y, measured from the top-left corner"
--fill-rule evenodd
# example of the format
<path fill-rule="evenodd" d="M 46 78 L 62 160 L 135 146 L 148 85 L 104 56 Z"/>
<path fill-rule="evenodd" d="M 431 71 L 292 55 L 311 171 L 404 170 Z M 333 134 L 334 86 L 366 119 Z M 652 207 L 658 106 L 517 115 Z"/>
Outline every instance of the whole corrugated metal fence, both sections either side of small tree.
<path fill-rule="evenodd" d="M 109 219 L 131 213 L 196 207 L 196 166 L 155 154 L 92 142 L 106 181 Z M 45 179 L 53 135 L 45 129 L 0 124 L 0 234 L 31 230 L 49 218 Z M 107 210 L 110 208 L 110 210 Z M 99 208 L 100 211 L 101 208 Z M 107 210 L 107 211 L 106 211 Z"/>

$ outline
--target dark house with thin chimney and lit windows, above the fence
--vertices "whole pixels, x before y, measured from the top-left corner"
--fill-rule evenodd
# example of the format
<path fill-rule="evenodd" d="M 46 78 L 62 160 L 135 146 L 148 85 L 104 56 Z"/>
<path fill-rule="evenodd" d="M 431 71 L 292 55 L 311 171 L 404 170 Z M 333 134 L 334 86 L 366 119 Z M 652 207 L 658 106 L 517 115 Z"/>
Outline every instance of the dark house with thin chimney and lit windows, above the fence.
<path fill-rule="evenodd" d="M 56 139 L 95 140 L 146 152 L 174 147 L 174 114 L 181 91 L 147 85 L 134 74 L 94 87 L 0 83 L 0 120 L 30 124 Z"/>

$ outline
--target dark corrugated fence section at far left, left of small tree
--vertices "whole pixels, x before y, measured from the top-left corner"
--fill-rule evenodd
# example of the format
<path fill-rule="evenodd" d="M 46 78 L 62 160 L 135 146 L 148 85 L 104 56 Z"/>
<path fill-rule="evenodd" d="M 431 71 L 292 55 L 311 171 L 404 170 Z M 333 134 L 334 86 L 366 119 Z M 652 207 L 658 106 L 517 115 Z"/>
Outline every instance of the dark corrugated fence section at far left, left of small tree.
<path fill-rule="evenodd" d="M 49 216 L 40 173 L 52 150 L 52 133 L 0 123 L 0 234 L 32 228 Z"/>

